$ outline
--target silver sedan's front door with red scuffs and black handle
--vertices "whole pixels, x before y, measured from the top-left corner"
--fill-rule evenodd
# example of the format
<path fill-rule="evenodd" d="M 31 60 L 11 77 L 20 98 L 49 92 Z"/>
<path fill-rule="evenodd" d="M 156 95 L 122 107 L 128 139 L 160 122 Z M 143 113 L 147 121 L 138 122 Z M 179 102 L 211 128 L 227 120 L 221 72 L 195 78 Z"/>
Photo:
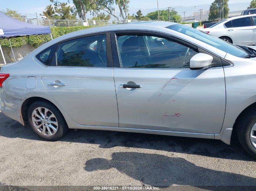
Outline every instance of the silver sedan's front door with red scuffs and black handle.
<path fill-rule="evenodd" d="M 118 52 L 113 56 L 119 126 L 219 133 L 226 99 L 223 68 L 191 70 L 197 47 L 153 34 L 111 35 Z"/>

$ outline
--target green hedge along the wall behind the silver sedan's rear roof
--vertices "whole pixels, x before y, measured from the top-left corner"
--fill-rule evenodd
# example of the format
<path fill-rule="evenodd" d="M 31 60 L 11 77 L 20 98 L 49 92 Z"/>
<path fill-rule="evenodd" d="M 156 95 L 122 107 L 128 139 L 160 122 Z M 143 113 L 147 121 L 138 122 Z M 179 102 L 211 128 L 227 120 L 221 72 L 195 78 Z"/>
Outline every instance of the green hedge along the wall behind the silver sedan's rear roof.
<path fill-rule="evenodd" d="M 78 26 L 78 27 L 51 27 L 52 31 L 52 38 L 60 37 L 64 34 L 71 33 L 77 30 L 82 30 L 86 28 L 90 28 L 93 26 Z M 49 34 L 42 34 L 42 35 L 33 35 L 28 37 L 17 37 L 10 39 L 12 43 L 12 47 L 22 47 L 24 44 L 28 43 L 32 46 L 38 47 L 41 43 L 46 43 L 51 40 Z M 1 46 L 10 47 L 8 39 L 0 40 Z"/>

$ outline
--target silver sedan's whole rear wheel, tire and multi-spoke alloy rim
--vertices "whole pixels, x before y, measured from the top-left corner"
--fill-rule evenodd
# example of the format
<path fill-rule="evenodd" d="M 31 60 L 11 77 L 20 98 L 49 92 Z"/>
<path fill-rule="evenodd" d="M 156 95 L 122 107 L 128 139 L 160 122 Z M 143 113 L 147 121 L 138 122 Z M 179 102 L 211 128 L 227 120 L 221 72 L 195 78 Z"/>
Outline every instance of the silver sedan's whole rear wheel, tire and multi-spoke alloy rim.
<path fill-rule="evenodd" d="M 62 138 L 68 130 L 60 111 L 45 101 L 35 101 L 29 106 L 28 123 L 37 135 L 48 141 Z"/>

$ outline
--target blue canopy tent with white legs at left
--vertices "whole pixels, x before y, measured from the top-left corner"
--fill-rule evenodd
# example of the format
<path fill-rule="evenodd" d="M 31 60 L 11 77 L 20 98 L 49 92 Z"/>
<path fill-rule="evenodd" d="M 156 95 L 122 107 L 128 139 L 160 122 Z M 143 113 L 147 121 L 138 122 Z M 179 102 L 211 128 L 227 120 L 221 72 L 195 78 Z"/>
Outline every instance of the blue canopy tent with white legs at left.
<path fill-rule="evenodd" d="M 25 23 L 25 22 L 13 19 L 0 11 L 0 39 L 8 39 L 11 49 L 12 49 L 12 45 L 10 42 L 10 38 L 37 35 L 37 34 L 50 34 L 52 38 L 50 27 Z M 4 63 L 6 64 L 1 45 L 0 45 L 0 51 L 3 56 Z M 13 50 L 12 50 L 12 54 L 14 56 Z M 14 57 L 14 60 L 15 60 L 15 57 Z"/>

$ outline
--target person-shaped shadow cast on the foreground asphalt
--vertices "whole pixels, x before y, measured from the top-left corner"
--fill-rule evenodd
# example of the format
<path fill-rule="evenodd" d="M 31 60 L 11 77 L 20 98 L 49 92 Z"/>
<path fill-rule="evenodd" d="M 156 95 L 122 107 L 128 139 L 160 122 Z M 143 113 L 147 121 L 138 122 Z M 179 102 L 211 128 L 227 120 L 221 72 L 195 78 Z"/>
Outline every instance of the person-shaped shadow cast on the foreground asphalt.
<path fill-rule="evenodd" d="M 184 158 L 161 154 L 116 152 L 111 160 L 94 158 L 86 161 L 84 167 L 89 172 L 110 168 L 139 180 L 143 186 L 256 186 L 256 178 L 196 166 Z"/>

